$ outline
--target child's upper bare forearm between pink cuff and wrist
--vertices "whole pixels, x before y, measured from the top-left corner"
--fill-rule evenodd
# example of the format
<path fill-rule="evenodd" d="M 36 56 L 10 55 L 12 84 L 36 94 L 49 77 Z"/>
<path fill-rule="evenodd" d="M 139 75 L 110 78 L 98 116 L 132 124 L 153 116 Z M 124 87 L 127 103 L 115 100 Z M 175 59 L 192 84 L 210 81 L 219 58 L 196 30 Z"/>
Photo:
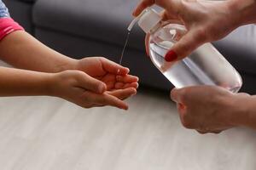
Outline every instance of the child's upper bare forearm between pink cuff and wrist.
<path fill-rule="evenodd" d="M 44 72 L 73 69 L 74 62 L 74 59 L 46 47 L 26 31 L 15 31 L 3 38 L 0 59 L 16 68 Z"/>

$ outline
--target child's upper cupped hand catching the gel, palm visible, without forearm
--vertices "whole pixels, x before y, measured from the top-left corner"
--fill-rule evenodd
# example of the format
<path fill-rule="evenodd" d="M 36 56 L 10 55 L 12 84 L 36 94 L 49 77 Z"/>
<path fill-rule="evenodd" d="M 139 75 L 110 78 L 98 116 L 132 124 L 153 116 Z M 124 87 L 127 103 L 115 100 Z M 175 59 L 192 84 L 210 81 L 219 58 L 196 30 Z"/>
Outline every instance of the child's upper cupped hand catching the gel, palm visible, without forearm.
<path fill-rule="evenodd" d="M 128 75 L 129 69 L 102 57 L 75 61 L 75 70 L 84 71 L 107 85 L 107 90 L 138 88 L 138 77 Z"/>

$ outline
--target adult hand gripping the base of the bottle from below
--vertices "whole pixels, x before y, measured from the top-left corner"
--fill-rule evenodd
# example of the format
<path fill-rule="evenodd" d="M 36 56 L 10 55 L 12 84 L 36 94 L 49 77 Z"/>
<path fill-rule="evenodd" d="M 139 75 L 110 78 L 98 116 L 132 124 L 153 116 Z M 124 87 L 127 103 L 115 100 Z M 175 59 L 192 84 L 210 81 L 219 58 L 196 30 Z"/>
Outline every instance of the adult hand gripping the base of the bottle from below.
<path fill-rule="evenodd" d="M 199 133 L 220 133 L 246 124 L 248 94 L 232 94 L 214 86 L 174 88 L 171 98 L 184 127 Z"/>

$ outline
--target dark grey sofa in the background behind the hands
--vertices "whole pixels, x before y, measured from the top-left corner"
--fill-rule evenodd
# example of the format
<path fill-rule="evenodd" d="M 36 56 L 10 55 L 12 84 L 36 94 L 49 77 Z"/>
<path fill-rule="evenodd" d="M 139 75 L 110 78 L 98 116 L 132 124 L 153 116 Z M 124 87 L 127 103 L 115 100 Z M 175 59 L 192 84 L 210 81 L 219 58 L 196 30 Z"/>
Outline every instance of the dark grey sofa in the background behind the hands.
<path fill-rule="evenodd" d="M 13 18 L 51 48 L 80 59 L 102 55 L 118 61 L 138 0 L 4 0 Z M 144 52 L 144 33 L 135 28 L 124 65 L 144 86 L 169 90 L 163 77 Z M 241 91 L 256 94 L 256 26 L 243 26 L 214 42 L 241 73 Z M 207 57 L 207 56 L 206 56 Z M 50 62 L 50 61 L 49 61 Z M 218 65 L 216 65 L 218 66 Z"/>

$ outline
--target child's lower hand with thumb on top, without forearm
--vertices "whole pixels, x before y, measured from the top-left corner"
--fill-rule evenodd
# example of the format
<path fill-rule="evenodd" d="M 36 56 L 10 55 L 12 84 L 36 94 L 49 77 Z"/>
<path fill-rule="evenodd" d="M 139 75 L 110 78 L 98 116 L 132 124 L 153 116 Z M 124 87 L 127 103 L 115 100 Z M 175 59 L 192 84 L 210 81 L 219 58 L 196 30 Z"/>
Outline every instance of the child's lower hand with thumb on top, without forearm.
<path fill-rule="evenodd" d="M 108 76 L 108 73 L 104 74 L 103 70 L 102 77 L 100 77 L 100 69 L 96 69 L 94 72 L 93 70 L 90 70 L 89 67 L 85 68 L 92 71 L 91 74 L 95 74 L 95 77 L 98 77 L 98 79 L 104 79 L 106 83 L 112 81 L 111 78 L 108 80 L 108 77 L 111 76 Z M 128 77 L 127 79 L 129 80 L 133 78 L 134 77 Z M 125 81 L 126 80 L 124 78 L 119 82 Z M 118 81 L 113 81 L 106 85 L 104 82 L 90 77 L 88 74 L 84 73 L 84 71 L 62 71 L 60 73 L 55 73 L 52 77 L 50 91 L 52 95 L 62 99 L 67 99 L 68 101 L 84 108 L 112 105 L 114 107 L 127 110 L 128 105 L 126 105 L 121 99 L 126 99 L 131 95 L 136 94 L 136 88 L 130 88 L 133 86 L 132 83 L 124 83 L 122 88 L 125 89 L 107 91 L 107 89 L 113 89 L 114 85 L 117 86 L 118 83 L 116 82 Z M 131 82 L 131 80 L 128 82 Z"/>

